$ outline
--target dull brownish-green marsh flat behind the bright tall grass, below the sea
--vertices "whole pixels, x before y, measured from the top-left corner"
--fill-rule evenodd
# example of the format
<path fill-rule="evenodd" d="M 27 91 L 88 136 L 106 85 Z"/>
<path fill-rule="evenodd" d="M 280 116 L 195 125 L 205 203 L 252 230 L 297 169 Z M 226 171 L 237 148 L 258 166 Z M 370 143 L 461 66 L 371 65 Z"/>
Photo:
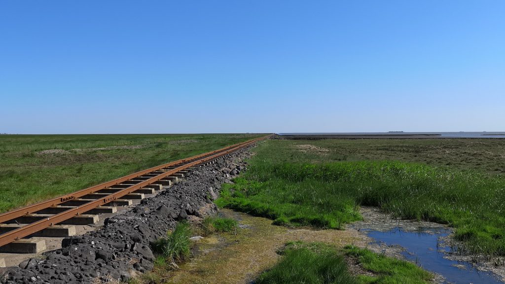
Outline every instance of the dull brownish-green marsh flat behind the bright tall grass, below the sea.
<path fill-rule="evenodd" d="M 323 148 L 301 153 L 300 145 Z M 399 161 L 481 173 L 505 173 L 505 139 L 323 139 L 277 140 L 272 145 L 286 162 Z M 290 149 L 293 151 L 286 151 Z M 285 150 L 283 150 L 285 149 Z M 310 160 L 309 160 L 310 159 Z"/>

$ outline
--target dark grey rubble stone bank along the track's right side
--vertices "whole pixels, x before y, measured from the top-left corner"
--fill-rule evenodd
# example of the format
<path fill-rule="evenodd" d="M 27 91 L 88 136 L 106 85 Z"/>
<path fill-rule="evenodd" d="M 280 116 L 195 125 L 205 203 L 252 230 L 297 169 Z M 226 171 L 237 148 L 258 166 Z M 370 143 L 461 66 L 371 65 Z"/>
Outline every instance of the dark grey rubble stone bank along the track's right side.
<path fill-rule="evenodd" d="M 221 184 L 245 170 L 241 149 L 215 164 L 191 170 L 187 177 L 131 210 L 105 220 L 104 227 L 63 240 L 62 249 L 7 268 L 2 283 L 100 283 L 125 281 L 153 268 L 150 243 L 188 216 L 217 212 L 213 200 Z M 45 259 L 44 259 L 45 258 Z"/>

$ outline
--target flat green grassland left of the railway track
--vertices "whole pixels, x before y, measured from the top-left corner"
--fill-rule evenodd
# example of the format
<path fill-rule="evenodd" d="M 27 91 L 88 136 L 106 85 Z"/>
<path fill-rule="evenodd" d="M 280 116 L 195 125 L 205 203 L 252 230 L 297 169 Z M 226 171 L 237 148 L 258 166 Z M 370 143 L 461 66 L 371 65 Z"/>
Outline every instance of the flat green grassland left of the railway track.
<path fill-rule="evenodd" d="M 0 135 L 0 212 L 259 136 Z"/>

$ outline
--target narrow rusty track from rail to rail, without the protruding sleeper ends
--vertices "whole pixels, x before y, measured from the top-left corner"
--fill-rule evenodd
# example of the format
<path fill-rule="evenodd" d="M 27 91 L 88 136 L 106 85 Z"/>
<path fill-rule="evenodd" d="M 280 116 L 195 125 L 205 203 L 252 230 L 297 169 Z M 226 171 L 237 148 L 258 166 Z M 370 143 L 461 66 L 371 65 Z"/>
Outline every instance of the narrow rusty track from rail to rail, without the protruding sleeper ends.
<path fill-rule="evenodd" d="M 223 149 L 181 159 L 143 171 L 132 173 L 105 183 L 85 188 L 72 194 L 46 200 L 0 214 L 0 226 L 17 224 L 0 234 L 0 247 L 18 241 L 43 229 L 61 224 L 71 218 L 89 212 L 107 209 L 107 205 L 120 202 L 125 196 L 135 196 L 149 185 L 161 187 L 158 183 L 170 184 L 167 178 L 205 163 L 212 163 L 230 153 L 252 145 L 270 135 L 248 140 Z M 155 186 L 155 188 L 156 188 Z M 137 193 L 138 194 L 138 193 Z M 77 205 L 76 205 L 77 204 Z M 83 216 L 83 215 L 81 215 Z M 33 220 L 33 221 L 26 221 Z"/>

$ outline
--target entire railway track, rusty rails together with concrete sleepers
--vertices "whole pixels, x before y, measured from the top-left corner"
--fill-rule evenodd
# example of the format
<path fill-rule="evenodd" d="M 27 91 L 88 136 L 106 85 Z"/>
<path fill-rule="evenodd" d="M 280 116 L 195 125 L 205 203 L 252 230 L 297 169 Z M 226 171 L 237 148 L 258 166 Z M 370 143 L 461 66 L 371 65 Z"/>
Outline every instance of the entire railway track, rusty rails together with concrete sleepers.
<path fill-rule="evenodd" d="M 99 213 L 115 213 L 116 206 L 131 205 L 163 185 L 170 185 L 188 170 L 214 163 L 252 145 L 263 136 L 216 151 L 170 162 L 132 173 L 71 194 L 0 214 L 0 251 L 38 253 L 28 236 L 61 237 L 69 234 L 69 224 L 85 225 L 98 221 Z M 45 245 L 44 245 L 45 247 Z"/>

